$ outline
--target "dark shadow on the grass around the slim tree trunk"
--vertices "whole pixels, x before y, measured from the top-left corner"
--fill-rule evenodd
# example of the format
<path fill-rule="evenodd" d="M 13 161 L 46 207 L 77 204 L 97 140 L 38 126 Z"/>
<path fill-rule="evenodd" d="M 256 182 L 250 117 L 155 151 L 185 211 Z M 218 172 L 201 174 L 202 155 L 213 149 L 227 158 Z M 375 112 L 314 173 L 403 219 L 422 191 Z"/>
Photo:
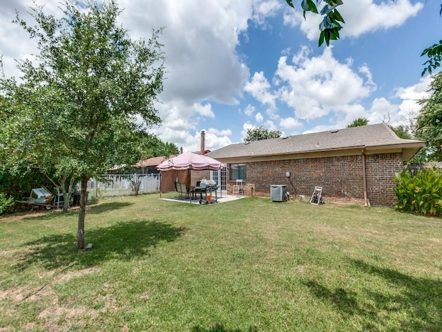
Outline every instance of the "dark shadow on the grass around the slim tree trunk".
<path fill-rule="evenodd" d="M 185 228 L 158 221 L 117 223 L 106 228 L 86 229 L 86 244 L 92 249 L 76 248 L 77 234 L 55 234 L 23 244 L 16 268 L 25 270 L 41 264 L 48 270 L 99 266 L 111 259 L 131 260 L 150 255 L 151 249 L 166 241 L 175 241 Z"/>

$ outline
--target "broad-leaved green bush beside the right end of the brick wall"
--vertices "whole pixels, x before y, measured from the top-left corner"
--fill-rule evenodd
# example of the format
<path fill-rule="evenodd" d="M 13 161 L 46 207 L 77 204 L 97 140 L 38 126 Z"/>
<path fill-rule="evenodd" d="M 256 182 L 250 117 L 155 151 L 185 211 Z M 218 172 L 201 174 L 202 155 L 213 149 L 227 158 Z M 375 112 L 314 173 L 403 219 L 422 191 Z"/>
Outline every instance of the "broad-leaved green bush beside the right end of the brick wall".
<path fill-rule="evenodd" d="M 420 169 L 416 174 L 410 169 L 396 173 L 393 179 L 396 187 L 396 208 L 403 212 L 441 216 L 442 214 L 442 171 L 441 169 Z"/>

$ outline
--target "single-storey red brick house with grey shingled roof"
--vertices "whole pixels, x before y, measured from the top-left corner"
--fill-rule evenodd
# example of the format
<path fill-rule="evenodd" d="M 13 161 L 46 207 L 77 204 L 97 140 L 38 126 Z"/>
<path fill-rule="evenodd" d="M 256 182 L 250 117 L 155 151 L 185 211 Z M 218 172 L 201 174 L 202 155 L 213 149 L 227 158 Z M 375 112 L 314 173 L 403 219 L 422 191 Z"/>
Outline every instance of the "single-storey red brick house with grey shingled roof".
<path fill-rule="evenodd" d="M 240 178 L 248 196 L 270 196 L 271 185 L 286 185 L 292 196 L 309 199 L 320 186 L 325 201 L 391 206 L 394 173 L 423 145 L 382 123 L 233 144 L 207 156 L 227 164 L 228 194 Z"/>

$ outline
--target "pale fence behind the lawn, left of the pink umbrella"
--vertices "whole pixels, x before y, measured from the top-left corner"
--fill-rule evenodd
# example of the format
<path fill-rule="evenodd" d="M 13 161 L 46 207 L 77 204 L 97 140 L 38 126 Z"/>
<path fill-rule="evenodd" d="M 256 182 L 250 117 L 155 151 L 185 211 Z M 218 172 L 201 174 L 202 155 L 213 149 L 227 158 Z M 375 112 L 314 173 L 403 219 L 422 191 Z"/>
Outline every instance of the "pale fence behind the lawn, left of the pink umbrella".
<path fill-rule="evenodd" d="M 160 192 L 160 174 L 104 174 L 88 181 L 88 199 L 93 197 L 135 195 L 133 183 L 139 183 L 138 194 Z"/>

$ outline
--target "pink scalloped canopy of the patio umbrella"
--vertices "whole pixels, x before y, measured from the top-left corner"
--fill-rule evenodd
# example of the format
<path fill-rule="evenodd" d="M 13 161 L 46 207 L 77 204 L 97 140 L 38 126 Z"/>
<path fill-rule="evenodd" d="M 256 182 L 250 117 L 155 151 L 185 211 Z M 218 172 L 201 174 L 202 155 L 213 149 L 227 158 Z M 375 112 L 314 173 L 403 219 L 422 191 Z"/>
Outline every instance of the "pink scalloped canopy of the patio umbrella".
<path fill-rule="evenodd" d="M 220 161 L 213 158 L 194 154 L 193 152 L 184 152 L 169 160 L 162 162 L 157 166 L 160 171 L 171 171 L 172 169 L 211 169 L 213 171 L 221 169 L 224 166 Z"/>

